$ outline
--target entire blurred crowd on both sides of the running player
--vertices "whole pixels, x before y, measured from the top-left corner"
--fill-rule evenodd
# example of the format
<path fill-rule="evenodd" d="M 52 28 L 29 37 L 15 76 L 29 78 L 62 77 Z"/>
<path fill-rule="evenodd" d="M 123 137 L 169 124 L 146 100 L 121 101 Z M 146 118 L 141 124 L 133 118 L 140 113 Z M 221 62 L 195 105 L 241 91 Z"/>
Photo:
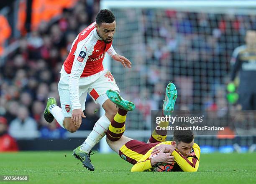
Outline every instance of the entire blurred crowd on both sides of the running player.
<path fill-rule="evenodd" d="M 42 114 L 48 97 L 59 103 L 59 71 L 78 32 L 95 21 L 98 1 L 80 0 L 61 17 L 41 22 L 38 30 L 19 39 L 20 47 L 0 66 L 0 116 L 15 138 L 65 138 L 56 122 Z M 93 2 L 93 1 L 92 1 Z M 136 104 L 130 128 L 149 129 L 151 110 L 161 109 L 169 81 L 178 88 L 181 110 L 227 109 L 225 85 L 230 57 L 244 44 L 248 29 L 256 29 L 253 15 L 177 12 L 174 10 L 113 10 L 117 31 L 113 46 L 132 63 L 123 70 L 113 62 L 111 72 L 121 94 Z M 99 106 L 87 97 L 86 119 L 79 130 L 92 129 Z M 141 123 L 145 121 L 146 124 Z"/>

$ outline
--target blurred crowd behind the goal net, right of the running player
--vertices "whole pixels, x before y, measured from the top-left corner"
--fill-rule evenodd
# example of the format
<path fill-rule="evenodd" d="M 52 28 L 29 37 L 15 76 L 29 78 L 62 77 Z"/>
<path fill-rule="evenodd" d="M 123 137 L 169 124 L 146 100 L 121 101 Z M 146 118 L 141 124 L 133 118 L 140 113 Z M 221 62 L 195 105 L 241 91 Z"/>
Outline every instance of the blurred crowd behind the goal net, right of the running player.
<path fill-rule="evenodd" d="M 113 45 L 130 57 L 134 75 L 122 70 L 122 77 L 115 63 L 112 73 L 124 95 L 136 99 L 138 111 L 133 121 L 143 114 L 141 120 L 150 127 L 150 111 L 161 109 L 169 81 L 178 88 L 175 109 L 239 108 L 230 106 L 226 99 L 230 60 L 236 47 L 245 44 L 246 30 L 256 30 L 255 15 L 235 10 L 198 13 L 116 9 L 113 13 L 119 16 Z"/>

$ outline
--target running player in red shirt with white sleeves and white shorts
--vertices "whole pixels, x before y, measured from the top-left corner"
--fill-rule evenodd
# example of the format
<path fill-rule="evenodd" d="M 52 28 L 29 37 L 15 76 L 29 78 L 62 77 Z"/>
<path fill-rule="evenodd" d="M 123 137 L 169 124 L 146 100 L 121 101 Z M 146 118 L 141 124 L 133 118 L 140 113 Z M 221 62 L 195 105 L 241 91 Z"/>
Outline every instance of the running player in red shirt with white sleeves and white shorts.
<path fill-rule="evenodd" d="M 113 13 L 107 9 L 100 10 L 96 22 L 77 35 L 60 72 L 58 90 L 61 108 L 51 97 L 44 111 L 47 122 L 52 122 L 55 118 L 61 127 L 69 132 L 76 132 L 81 125 L 82 117 L 85 117 L 83 110 L 88 92 L 95 103 L 103 107 L 105 114 L 95 123 L 84 143 L 74 149 L 74 156 L 81 160 L 84 167 L 92 171 L 94 167 L 90 160 L 91 149 L 105 136 L 110 121 L 118 111 L 106 95 L 109 89 L 119 91 L 113 75 L 102 65 L 106 52 L 124 67 L 131 68 L 131 62 L 118 55 L 112 47 L 115 27 Z"/>

